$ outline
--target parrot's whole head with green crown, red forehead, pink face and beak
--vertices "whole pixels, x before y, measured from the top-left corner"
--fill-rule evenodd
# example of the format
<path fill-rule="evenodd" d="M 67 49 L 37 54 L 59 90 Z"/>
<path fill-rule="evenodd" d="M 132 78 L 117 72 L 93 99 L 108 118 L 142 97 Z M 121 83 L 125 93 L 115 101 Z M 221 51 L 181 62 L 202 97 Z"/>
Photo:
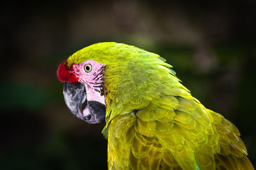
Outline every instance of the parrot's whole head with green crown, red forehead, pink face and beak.
<path fill-rule="evenodd" d="M 175 74 L 156 53 L 104 42 L 87 46 L 58 66 L 69 110 L 89 124 L 140 110 L 160 94 L 158 81 Z M 149 78 L 150 77 L 150 78 Z M 152 81 L 154 80 L 154 81 Z M 166 79 L 168 80 L 168 79 Z"/>

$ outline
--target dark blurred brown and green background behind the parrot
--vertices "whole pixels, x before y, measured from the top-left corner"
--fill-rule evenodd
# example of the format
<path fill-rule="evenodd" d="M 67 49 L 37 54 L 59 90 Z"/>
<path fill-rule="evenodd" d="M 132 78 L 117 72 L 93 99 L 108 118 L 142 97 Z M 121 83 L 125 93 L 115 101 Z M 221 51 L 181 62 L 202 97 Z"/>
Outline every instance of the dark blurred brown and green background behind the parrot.
<path fill-rule="evenodd" d="M 2 1 L 0 169 L 107 169 L 104 124 L 68 112 L 58 64 L 101 41 L 155 52 L 241 132 L 256 165 L 256 1 Z"/>

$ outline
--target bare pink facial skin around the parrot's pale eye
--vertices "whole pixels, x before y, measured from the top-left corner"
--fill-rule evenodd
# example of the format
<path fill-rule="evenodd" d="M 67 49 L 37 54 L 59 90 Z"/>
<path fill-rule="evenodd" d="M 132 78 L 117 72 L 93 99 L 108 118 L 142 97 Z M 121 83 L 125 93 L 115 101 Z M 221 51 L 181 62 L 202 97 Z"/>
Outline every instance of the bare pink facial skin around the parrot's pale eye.
<path fill-rule="evenodd" d="M 92 70 L 86 72 L 84 66 L 90 64 Z M 86 89 L 86 99 L 88 101 L 97 101 L 101 104 L 106 104 L 105 97 L 103 95 L 103 71 L 105 69 L 104 64 L 95 62 L 94 60 L 86 60 L 81 64 L 72 64 L 72 73 L 79 76 L 79 82 L 82 83 Z M 83 110 L 83 116 L 90 115 L 88 104 Z"/>

